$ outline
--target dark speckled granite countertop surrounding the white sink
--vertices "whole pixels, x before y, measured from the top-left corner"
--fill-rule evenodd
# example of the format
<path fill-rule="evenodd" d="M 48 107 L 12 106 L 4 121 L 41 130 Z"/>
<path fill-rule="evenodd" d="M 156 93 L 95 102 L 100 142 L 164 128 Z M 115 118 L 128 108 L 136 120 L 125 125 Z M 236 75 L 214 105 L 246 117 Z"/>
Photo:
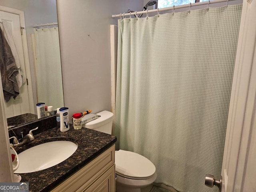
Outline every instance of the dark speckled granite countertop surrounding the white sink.
<path fill-rule="evenodd" d="M 19 174 L 22 177 L 20 182 L 29 182 L 30 192 L 50 191 L 113 145 L 116 142 L 116 137 L 87 128 L 74 130 L 74 128 L 70 126 L 70 130 L 66 132 L 60 132 L 60 128 L 53 128 L 35 135 L 35 140 L 24 146 L 16 147 L 15 149 L 19 154 L 38 144 L 56 140 L 76 142 L 78 148 L 72 156 L 56 166 L 37 172 Z"/>

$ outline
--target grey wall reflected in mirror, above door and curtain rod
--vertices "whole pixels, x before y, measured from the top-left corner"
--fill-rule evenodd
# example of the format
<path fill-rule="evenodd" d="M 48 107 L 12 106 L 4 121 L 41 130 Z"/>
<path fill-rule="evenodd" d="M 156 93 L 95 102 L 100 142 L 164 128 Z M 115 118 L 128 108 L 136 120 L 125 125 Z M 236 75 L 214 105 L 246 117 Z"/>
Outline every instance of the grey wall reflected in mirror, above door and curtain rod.
<path fill-rule="evenodd" d="M 33 52 L 30 34 L 34 33 L 32 25 L 57 22 L 56 0 L 1 0 L 0 6 L 24 11 L 26 34 L 28 41 L 28 54 L 33 88 L 34 102 L 37 101 L 36 81 L 34 72 Z M 36 109 L 35 109 L 36 110 Z"/>

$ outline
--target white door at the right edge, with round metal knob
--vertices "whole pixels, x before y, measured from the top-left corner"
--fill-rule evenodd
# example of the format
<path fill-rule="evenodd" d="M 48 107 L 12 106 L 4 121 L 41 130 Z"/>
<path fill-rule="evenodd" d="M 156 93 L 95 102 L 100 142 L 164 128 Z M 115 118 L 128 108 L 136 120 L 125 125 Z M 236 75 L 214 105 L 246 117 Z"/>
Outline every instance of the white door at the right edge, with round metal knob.
<path fill-rule="evenodd" d="M 223 192 L 242 192 L 255 128 L 256 0 L 244 0 L 222 162 Z"/>

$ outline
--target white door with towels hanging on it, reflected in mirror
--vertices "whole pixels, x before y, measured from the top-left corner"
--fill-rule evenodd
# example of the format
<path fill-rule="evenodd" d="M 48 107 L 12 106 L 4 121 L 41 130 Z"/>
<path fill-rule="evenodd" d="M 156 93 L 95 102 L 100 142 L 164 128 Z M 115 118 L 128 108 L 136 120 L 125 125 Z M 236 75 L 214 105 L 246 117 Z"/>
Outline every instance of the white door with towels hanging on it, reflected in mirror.
<path fill-rule="evenodd" d="M 11 98 L 9 102 L 5 102 L 6 118 L 17 116 L 20 114 L 30 113 L 28 86 L 26 82 L 26 70 L 24 63 L 24 53 L 22 45 L 22 34 L 20 26 L 20 16 L 9 12 L 0 11 L 0 21 L 6 20 L 9 29 L 12 32 L 14 43 L 20 60 L 20 68 L 22 72 L 23 84 L 20 88 L 20 95 L 14 100 Z"/>

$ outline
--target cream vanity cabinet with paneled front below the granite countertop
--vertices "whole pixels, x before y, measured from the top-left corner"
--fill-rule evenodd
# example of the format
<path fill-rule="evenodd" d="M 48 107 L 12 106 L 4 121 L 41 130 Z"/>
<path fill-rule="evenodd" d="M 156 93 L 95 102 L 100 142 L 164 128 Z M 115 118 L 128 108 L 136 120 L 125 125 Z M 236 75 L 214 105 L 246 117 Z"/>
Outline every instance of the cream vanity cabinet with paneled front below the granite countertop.
<path fill-rule="evenodd" d="M 51 192 L 115 192 L 115 145 L 72 174 Z"/>

